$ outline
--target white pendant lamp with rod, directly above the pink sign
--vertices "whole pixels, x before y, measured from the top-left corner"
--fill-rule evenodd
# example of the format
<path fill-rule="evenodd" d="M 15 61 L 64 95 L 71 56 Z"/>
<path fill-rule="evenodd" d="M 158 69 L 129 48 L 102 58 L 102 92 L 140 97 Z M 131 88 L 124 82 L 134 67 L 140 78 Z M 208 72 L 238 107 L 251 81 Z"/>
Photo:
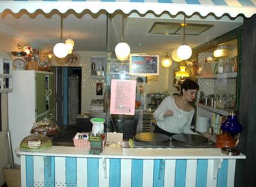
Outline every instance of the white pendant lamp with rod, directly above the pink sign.
<path fill-rule="evenodd" d="M 130 54 L 130 46 L 124 42 L 124 16 L 122 16 L 122 42 L 116 45 L 114 52 L 119 60 L 128 59 Z"/>

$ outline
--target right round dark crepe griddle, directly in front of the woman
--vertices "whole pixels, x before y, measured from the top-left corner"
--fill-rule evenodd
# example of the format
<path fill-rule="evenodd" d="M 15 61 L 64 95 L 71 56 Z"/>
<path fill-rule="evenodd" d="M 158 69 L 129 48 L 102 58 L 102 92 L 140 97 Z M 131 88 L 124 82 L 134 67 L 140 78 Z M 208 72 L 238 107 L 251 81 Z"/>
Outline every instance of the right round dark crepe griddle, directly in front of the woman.
<path fill-rule="evenodd" d="M 207 142 L 207 138 L 199 135 L 192 134 L 177 134 L 171 136 L 173 141 L 177 141 L 177 143 L 184 144 L 187 146 L 198 146 L 202 143 Z"/>

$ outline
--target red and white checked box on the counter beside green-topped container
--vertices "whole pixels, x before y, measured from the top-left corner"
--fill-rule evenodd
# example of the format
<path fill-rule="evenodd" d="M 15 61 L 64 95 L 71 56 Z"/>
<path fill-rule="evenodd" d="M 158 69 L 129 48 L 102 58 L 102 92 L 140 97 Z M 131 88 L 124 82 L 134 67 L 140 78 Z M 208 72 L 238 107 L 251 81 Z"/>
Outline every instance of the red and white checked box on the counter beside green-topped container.
<path fill-rule="evenodd" d="M 104 137 L 103 137 L 104 135 Z M 104 148 L 105 146 L 105 134 L 103 134 L 103 141 L 102 141 L 102 148 Z M 73 142 L 75 145 L 75 148 L 91 148 L 91 144 L 89 141 L 89 133 L 76 133 L 74 138 L 73 138 Z"/>

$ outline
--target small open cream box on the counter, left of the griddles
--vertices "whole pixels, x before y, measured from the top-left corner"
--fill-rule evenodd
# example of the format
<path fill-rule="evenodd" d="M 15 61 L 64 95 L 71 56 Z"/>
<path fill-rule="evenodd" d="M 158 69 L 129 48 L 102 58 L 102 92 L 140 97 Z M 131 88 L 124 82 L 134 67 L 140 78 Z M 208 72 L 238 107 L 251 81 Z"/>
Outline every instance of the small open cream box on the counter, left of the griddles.
<path fill-rule="evenodd" d="M 122 152 L 122 133 L 107 133 L 106 134 L 106 152 Z"/>

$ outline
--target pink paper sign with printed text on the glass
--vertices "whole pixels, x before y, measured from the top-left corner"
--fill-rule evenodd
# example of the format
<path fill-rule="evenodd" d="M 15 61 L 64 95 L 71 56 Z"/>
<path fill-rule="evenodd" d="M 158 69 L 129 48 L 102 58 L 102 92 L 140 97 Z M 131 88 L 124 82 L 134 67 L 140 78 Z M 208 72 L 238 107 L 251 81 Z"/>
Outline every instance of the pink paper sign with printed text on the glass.
<path fill-rule="evenodd" d="M 134 115 L 136 80 L 111 80 L 110 114 Z"/>

